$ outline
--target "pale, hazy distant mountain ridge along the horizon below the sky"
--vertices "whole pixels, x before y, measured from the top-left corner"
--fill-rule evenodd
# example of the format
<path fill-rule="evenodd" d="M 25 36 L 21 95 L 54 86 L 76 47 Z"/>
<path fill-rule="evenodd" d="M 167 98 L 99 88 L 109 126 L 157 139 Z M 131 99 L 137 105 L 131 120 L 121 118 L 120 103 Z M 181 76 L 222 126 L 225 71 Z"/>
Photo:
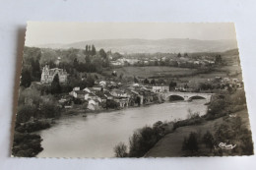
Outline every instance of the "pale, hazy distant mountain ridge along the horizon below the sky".
<path fill-rule="evenodd" d="M 178 53 L 178 52 L 223 52 L 237 48 L 236 40 L 198 40 L 198 39 L 101 39 L 74 42 L 69 44 L 44 44 L 37 45 L 41 48 L 79 48 L 87 44 L 94 44 L 96 49 L 120 53 Z"/>

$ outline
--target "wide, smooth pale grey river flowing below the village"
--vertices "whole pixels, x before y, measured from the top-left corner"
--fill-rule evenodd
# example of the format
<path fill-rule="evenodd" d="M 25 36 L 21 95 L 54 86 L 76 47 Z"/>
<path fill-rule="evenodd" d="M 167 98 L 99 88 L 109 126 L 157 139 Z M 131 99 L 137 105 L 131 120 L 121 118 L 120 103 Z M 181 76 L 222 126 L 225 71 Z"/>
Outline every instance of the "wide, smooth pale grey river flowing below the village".
<path fill-rule="evenodd" d="M 128 144 L 133 132 L 158 121 L 186 119 L 188 109 L 206 114 L 205 99 L 192 102 L 165 102 L 145 107 L 127 108 L 62 117 L 40 132 L 43 150 L 37 157 L 114 157 L 118 142 Z"/>

